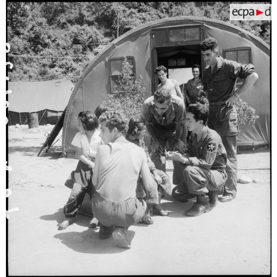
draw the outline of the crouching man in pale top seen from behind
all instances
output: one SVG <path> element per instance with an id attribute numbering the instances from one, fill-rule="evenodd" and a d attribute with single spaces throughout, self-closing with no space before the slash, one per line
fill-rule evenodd
<path id="1" fill-rule="evenodd" d="M 98 148 L 92 177 L 96 189 L 93 214 L 101 222 L 100 238 L 112 234 L 120 247 L 131 248 L 128 227 L 136 224 L 146 210 L 145 202 L 136 197 L 138 175 L 151 194 L 151 173 L 144 150 L 124 137 L 128 129 L 125 116 L 110 111 L 102 114 L 99 121 L 105 145 Z"/>

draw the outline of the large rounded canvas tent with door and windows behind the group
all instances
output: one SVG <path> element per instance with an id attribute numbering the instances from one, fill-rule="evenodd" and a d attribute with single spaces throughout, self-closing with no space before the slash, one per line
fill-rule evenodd
<path id="1" fill-rule="evenodd" d="M 134 75 L 142 76 L 145 98 L 158 85 L 154 69 L 164 65 L 168 69 L 186 69 L 192 64 L 205 68 L 200 43 L 214 37 L 219 43 L 219 54 L 242 64 L 252 63 L 259 75 L 251 91 L 242 96 L 256 109 L 260 118 L 254 127 L 241 131 L 240 144 L 270 143 L 270 48 L 265 42 L 243 29 L 219 20 L 204 17 L 172 17 L 146 23 L 114 40 L 98 53 L 84 70 L 70 96 L 63 126 L 63 153 L 72 153 L 71 141 L 77 132 L 76 115 L 94 109 L 107 95 L 116 90 L 116 80 L 122 70 L 124 56 L 134 66 Z M 184 73 L 186 74 L 186 73 Z M 184 75 L 184 79 L 188 79 Z M 241 80 L 237 80 L 237 87 Z"/>

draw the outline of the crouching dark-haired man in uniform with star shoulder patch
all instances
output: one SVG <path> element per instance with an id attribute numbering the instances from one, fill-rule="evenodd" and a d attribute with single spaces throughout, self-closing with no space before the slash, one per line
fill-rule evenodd
<path id="1" fill-rule="evenodd" d="M 172 191 L 179 201 L 196 196 L 197 202 L 186 215 L 197 216 L 208 212 L 217 204 L 217 196 L 226 182 L 226 150 L 220 136 L 207 127 L 208 105 L 192 104 L 188 107 L 186 125 L 191 131 L 184 154 L 167 152 L 169 159 L 183 164 L 183 178 Z"/>

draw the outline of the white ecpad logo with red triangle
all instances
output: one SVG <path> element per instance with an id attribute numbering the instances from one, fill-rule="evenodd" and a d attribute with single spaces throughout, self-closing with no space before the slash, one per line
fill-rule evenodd
<path id="1" fill-rule="evenodd" d="M 271 4 L 230 4 L 230 20 L 271 20 Z"/>

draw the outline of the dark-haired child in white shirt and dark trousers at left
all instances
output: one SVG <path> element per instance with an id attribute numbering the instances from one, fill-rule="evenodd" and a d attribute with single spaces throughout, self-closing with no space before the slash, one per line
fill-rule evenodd
<path id="1" fill-rule="evenodd" d="M 69 196 L 69 200 L 64 207 L 65 219 L 59 225 L 59 230 L 66 229 L 72 223 L 72 218 L 76 217 L 78 210 L 83 202 L 85 193 L 87 192 L 92 198 L 94 187 L 92 185 L 92 173 L 97 148 L 102 144 L 99 137 L 99 123 L 96 115 L 90 111 L 80 112 L 78 114 L 78 129 L 71 144 L 75 148 L 75 156 L 79 159 L 73 175 L 73 188 Z M 91 224 L 94 222 L 94 227 L 98 221 L 92 218 Z"/>

